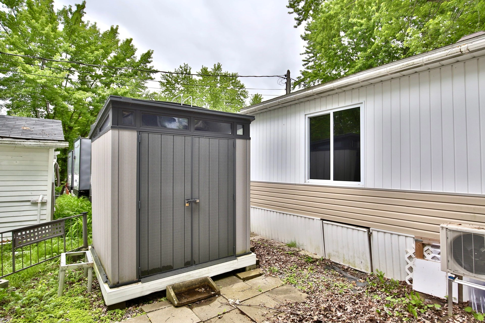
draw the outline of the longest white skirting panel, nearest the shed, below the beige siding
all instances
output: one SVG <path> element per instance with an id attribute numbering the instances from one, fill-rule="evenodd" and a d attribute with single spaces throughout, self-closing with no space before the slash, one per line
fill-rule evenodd
<path id="1" fill-rule="evenodd" d="M 251 207 L 251 232 L 324 255 L 323 229 L 320 219 Z"/>

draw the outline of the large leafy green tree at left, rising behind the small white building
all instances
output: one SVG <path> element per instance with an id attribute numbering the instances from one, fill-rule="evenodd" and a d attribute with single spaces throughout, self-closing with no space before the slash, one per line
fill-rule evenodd
<path id="1" fill-rule="evenodd" d="M 0 51 L 91 65 L 0 55 L 0 107 L 8 114 L 61 120 L 65 140 L 88 135 L 108 95 L 144 97 L 152 51 L 137 57 L 118 27 L 84 21 L 85 2 L 55 11 L 53 0 L 3 0 Z M 65 156 L 60 164 L 65 173 Z"/>

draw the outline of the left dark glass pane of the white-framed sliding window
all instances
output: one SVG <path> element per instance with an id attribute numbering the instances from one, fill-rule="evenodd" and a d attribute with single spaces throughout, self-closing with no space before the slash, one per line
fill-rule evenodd
<path id="1" fill-rule="evenodd" d="M 310 179 L 330 179 L 330 114 L 310 119 Z"/>

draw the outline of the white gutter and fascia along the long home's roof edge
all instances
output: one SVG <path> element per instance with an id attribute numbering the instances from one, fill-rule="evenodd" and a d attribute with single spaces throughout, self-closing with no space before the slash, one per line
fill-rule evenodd
<path id="1" fill-rule="evenodd" d="M 479 55 L 472 55 L 477 51 L 482 51 Z M 423 71 L 437 66 L 452 64 L 456 61 L 463 61 L 476 56 L 485 55 L 485 36 L 473 38 L 471 40 L 438 48 L 420 55 L 415 55 L 396 62 L 377 66 L 372 69 L 362 71 L 347 77 L 341 77 L 336 80 L 316 85 L 307 90 L 300 90 L 292 94 L 285 94 L 274 99 L 261 102 L 254 106 L 243 108 L 241 114 L 258 114 L 271 108 L 280 108 L 291 104 L 297 104 L 300 100 L 308 96 L 327 96 L 331 91 L 339 91 L 342 88 L 355 86 L 361 87 L 367 85 L 371 80 L 377 83 L 383 79 L 401 77 Z M 459 58 L 459 59 L 458 59 Z M 439 65 L 436 65 L 439 64 Z"/>

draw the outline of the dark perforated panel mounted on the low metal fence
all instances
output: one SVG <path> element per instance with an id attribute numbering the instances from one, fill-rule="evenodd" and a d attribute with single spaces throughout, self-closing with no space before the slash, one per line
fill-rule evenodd
<path id="1" fill-rule="evenodd" d="M 64 222 L 64 219 L 61 219 L 12 231 L 14 248 L 63 236 Z"/>

